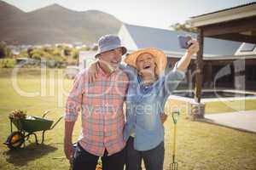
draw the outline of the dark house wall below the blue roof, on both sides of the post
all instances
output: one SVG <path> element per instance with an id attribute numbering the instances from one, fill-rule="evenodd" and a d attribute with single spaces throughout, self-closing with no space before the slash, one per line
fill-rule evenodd
<path id="1" fill-rule="evenodd" d="M 177 60 L 167 58 L 166 72 L 172 70 Z M 191 60 L 178 88 L 195 88 L 195 62 L 195 59 Z M 256 59 L 204 60 L 202 87 L 256 91 Z"/>

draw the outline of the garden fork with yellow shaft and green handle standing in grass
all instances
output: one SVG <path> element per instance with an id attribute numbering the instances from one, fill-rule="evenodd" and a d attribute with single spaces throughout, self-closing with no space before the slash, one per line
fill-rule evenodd
<path id="1" fill-rule="evenodd" d="M 172 120 L 173 120 L 173 148 L 172 148 L 172 163 L 170 164 L 171 170 L 177 170 L 177 161 L 175 159 L 176 156 L 176 124 L 177 117 L 179 116 L 179 111 L 172 111 Z"/>

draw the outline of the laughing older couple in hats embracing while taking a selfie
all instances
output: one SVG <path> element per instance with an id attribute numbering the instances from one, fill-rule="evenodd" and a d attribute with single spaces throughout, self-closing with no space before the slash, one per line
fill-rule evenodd
<path id="1" fill-rule="evenodd" d="M 164 163 L 164 107 L 183 80 L 196 40 L 164 74 L 166 54 L 143 48 L 125 57 L 126 48 L 114 35 L 98 41 L 97 61 L 76 77 L 67 97 L 64 151 L 74 170 L 162 170 Z M 171 44 L 170 44 L 171 45 Z M 125 105 L 125 107 L 124 107 Z M 124 111 L 125 110 L 125 111 Z M 81 133 L 73 148 L 73 127 L 81 111 Z"/>

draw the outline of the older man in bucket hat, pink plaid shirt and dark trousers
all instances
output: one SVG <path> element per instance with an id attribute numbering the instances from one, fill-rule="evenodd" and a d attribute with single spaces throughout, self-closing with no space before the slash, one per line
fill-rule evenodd
<path id="1" fill-rule="evenodd" d="M 99 39 L 98 75 L 89 83 L 88 71 L 82 71 L 67 98 L 64 150 L 73 160 L 73 169 L 95 170 L 102 157 L 104 170 L 123 170 L 125 140 L 123 137 L 123 104 L 128 88 L 128 77 L 119 69 L 126 48 L 119 37 L 106 35 Z M 81 109 L 82 129 L 78 146 L 73 150 L 73 127 Z"/>

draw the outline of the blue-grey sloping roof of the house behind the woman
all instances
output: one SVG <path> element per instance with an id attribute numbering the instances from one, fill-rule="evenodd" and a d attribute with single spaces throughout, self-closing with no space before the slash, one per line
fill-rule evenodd
<path id="1" fill-rule="evenodd" d="M 159 28 L 145 27 L 145 26 L 132 26 L 124 25 L 129 31 L 133 41 L 136 43 L 137 48 L 160 48 L 167 53 L 183 54 L 184 49 L 179 47 L 177 36 L 189 34 L 196 37 L 195 33 L 185 31 L 170 31 Z M 241 42 L 232 42 L 220 40 L 216 38 L 205 38 L 204 57 L 234 55 L 236 50 L 241 46 Z"/>

